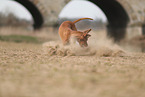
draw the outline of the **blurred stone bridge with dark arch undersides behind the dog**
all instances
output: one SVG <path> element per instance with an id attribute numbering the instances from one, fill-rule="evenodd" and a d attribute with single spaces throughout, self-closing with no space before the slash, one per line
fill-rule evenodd
<path id="1" fill-rule="evenodd" d="M 28 9 L 34 19 L 34 28 L 57 25 L 58 15 L 71 0 L 14 0 Z M 145 0 L 88 0 L 102 9 L 108 18 L 108 35 L 119 41 L 127 27 L 145 24 Z M 139 28 L 139 29 L 140 29 Z M 131 30 L 129 28 L 128 30 Z M 143 30 L 144 31 L 144 30 Z M 139 30 L 140 32 L 140 30 Z M 138 33 L 139 33 L 138 32 Z M 136 32 L 134 32 L 136 33 Z"/>

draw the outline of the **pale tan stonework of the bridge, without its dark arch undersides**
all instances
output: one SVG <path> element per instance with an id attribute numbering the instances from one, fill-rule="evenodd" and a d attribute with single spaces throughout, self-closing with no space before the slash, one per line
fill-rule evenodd
<path id="1" fill-rule="evenodd" d="M 43 17 L 42 26 L 54 26 L 57 24 L 59 13 L 64 8 L 64 6 L 68 4 L 68 2 L 70 2 L 71 0 L 29 0 L 29 1 L 36 6 L 40 14 L 42 15 Z M 97 4 L 97 2 L 101 0 L 89 0 L 89 1 Z M 106 0 L 106 1 L 111 2 L 114 0 Z M 115 1 L 117 1 L 124 8 L 129 17 L 129 23 L 127 24 L 126 28 L 127 32 L 134 31 L 134 33 L 138 33 L 139 35 L 140 33 L 145 33 L 140 32 L 144 31 L 142 29 L 144 27 L 143 25 L 145 25 L 145 0 L 115 0 Z M 134 29 L 140 30 L 138 30 L 139 31 L 138 32 L 137 30 Z M 126 35 L 128 34 L 130 33 L 127 33 Z"/>

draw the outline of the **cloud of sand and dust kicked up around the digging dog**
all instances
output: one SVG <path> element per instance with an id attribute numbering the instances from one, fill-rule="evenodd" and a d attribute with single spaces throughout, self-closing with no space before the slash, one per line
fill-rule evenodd
<path id="1" fill-rule="evenodd" d="M 50 56 L 103 56 L 122 57 L 127 53 L 106 36 L 105 31 L 91 32 L 88 47 L 81 48 L 77 43 L 63 46 L 61 41 L 49 41 L 43 44 L 43 51 Z"/>

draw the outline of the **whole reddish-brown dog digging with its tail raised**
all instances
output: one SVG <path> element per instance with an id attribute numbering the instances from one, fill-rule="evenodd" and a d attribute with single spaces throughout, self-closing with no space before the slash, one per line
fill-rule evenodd
<path id="1" fill-rule="evenodd" d="M 90 19 L 93 20 L 91 18 L 80 18 L 76 21 L 64 21 L 60 27 L 59 27 L 59 35 L 60 38 L 63 42 L 64 45 L 68 44 L 70 41 L 70 37 L 75 37 L 78 41 L 78 43 L 80 44 L 81 47 L 87 47 L 88 43 L 87 40 L 88 38 L 91 36 L 90 34 L 88 34 L 91 29 L 88 29 L 86 31 L 77 31 L 75 23 L 80 21 L 80 20 L 84 20 L 84 19 Z"/>

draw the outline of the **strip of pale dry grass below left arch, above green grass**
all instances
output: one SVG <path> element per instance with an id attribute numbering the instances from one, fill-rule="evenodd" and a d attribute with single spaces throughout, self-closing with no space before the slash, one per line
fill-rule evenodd
<path id="1" fill-rule="evenodd" d="M 22 28 L 12 28 L 12 27 L 1 27 L 0 28 L 0 35 L 1 36 L 28 36 L 28 37 L 35 37 L 39 41 L 52 41 L 52 40 L 58 40 L 59 36 L 56 34 L 57 31 L 50 27 L 45 28 L 37 31 L 33 31 L 31 29 L 22 29 Z"/>

